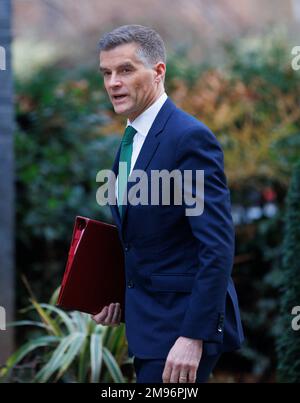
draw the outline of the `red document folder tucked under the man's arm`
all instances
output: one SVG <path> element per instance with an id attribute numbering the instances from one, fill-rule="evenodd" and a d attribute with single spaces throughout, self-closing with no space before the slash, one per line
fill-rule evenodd
<path id="1" fill-rule="evenodd" d="M 117 227 L 77 216 L 57 305 L 94 315 L 119 302 L 124 322 L 124 298 L 124 256 Z"/>

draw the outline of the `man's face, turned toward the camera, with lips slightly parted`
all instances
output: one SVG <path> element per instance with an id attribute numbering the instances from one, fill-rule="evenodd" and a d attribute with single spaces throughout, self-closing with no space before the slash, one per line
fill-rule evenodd
<path id="1" fill-rule="evenodd" d="M 100 52 L 104 86 L 116 113 L 133 121 L 160 95 L 164 64 L 146 66 L 129 43 Z"/>

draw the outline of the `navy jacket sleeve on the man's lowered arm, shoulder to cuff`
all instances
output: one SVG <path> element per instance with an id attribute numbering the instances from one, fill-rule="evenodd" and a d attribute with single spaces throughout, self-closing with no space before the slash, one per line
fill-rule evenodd
<path id="1" fill-rule="evenodd" d="M 192 170 L 193 196 L 198 191 L 195 171 L 204 171 L 203 212 L 186 216 L 196 240 L 199 268 L 180 335 L 222 343 L 227 285 L 234 257 L 234 227 L 223 152 L 212 132 L 199 125 L 181 137 L 176 163 L 182 173 Z"/>

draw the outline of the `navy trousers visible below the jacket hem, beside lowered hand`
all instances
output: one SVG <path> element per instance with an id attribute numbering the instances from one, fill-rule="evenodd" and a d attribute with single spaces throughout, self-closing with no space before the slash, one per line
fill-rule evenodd
<path id="1" fill-rule="evenodd" d="M 203 356 L 197 370 L 196 383 L 204 383 L 214 369 L 221 354 Z M 162 383 L 166 359 L 140 359 L 134 357 L 137 383 Z"/>

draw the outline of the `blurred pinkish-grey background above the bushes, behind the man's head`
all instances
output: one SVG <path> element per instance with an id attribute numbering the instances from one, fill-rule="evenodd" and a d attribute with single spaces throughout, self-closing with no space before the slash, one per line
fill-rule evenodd
<path id="1" fill-rule="evenodd" d="M 23 71 L 30 58 L 58 54 L 91 62 L 100 35 L 123 24 L 156 28 L 169 51 L 188 49 L 193 61 L 218 60 L 224 41 L 254 40 L 272 26 L 286 31 L 291 43 L 300 31 L 299 0 L 13 0 L 13 6 L 16 61 L 21 53 Z"/>

